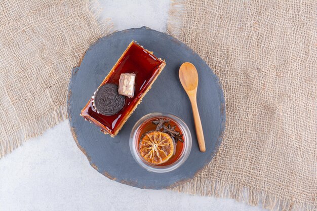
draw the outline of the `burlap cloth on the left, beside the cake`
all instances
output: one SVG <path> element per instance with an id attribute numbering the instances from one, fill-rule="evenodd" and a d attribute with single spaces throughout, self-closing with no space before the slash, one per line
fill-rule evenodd
<path id="1" fill-rule="evenodd" d="M 0 157 L 66 118 L 71 68 L 110 29 L 94 5 L 0 1 Z"/>

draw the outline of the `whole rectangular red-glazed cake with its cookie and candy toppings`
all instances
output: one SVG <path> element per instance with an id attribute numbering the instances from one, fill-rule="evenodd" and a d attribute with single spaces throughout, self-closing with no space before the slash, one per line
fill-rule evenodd
<path id="1" fill-rule="evenodd" d="M 132 41 L 93 93 L 81 116 L 99 126 L 103 133 L 116 136 L 165 65 L 164 60 Z"/>

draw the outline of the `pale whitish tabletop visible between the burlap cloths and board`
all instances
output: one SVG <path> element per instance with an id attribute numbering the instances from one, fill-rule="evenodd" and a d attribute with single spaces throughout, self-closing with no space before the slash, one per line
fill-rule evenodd
<path id="1" fill-rule="evenodd" d="M 169 0 L 99 1 L 117 30 L 166 31 Z M 0 210 L 264 210 L 232 199 L 143 190 L 92 168 L 64 121 L 0 159 Z"/>

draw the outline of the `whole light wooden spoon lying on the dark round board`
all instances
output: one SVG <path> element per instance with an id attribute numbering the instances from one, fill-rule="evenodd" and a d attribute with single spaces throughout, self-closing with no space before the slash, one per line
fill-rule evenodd
<path id="1" fill-rule="evenodd" d="M 198 73 L 195 66 L 189 62 L 183 63 L 179 68 L 179 79 L 191 103 L 199 148 L 201 152 L 205 152 L 203 127 L 197 107 Z"/>

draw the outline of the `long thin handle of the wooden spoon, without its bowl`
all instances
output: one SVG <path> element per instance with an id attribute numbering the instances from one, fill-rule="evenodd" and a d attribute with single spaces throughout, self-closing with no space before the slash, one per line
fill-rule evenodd
<path id="1" fill-rule="evenodd" d="M 202 127 L 201 117 L 199 115 L 199 111 L 197 107 L 196 96 L 191 97 L 190 102 L 191 102 L 192 113 L 193 113 L 194 121 L 195 121 L 196 136 L 198 140 L 199 149 L 201 150 L 201 152 L 205 152 L 206 146 L 205 146 L 204 132 Z"/>

